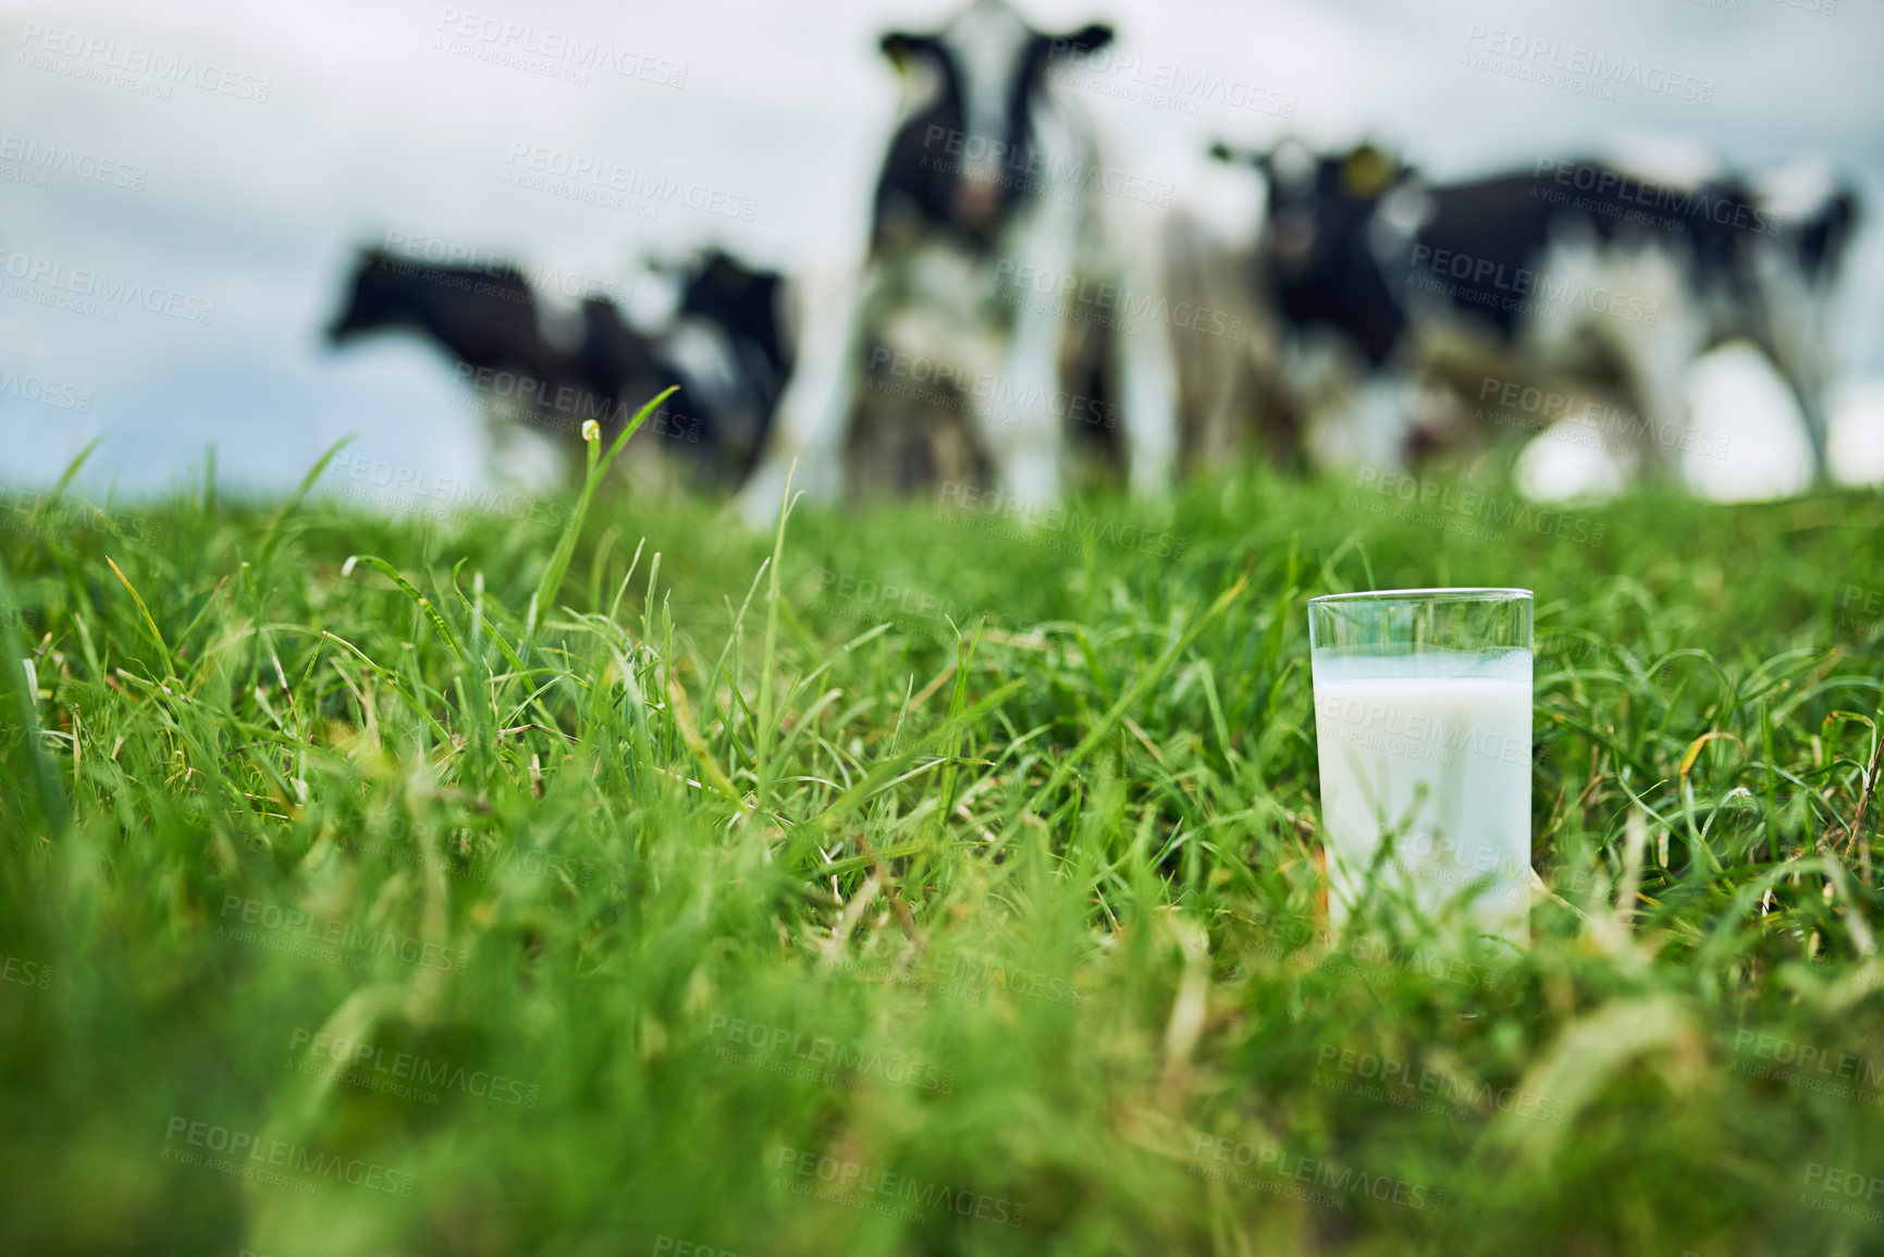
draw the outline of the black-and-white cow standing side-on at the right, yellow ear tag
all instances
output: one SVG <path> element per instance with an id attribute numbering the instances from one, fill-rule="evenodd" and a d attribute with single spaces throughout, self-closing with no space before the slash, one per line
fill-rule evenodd
<path id="1" fill-rule="evenodd" d="M 1690 371 L 1745 341 L 1790 388 L 1826 475 L 1829 371 L 1812 332 L 1854 190 L 1827 179 L 1782 200 L 1731 173 L 1677 181 L 1592 158 L 1426 183 L 1372 143 L 1242 160 L 1268 196 L 1245 273 L 1285 326 L 1277 405 L 1307 416 L 1328 458 L 1483 443 L 1477 401 L 1513 383 L 1562 400 L 1543 420 L 1605 420 L 1628 471 L 1667 471 L 1694 443 Z"/>

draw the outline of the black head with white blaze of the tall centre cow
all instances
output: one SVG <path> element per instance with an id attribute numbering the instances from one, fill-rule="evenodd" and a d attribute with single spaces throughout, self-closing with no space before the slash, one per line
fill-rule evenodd
<path id="1" fill-rule="evenodd" d="M 1112 26 L 1031 28 L 1004 0 L 974 0 L 936 34 L 889 32 L 884 55 L 912 79 L 876 190 L 876 241 L 940 226 L 985 245 L 1057 171 L 1038 153 L 1034 111 L 1055 58 L 1112 41 Z"/>

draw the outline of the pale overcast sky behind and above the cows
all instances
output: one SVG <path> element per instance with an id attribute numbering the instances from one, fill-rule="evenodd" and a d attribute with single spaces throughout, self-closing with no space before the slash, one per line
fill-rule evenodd
<path id="1" fill-rule="evenodd" d="M 435 354 L 407 339 L 339 354 L 318 341 L 358 243 L 405 232 L 590 285 L 631 283 L 639 258 L 708 241 L 788 271 L 853 256 L 897 104 L 876 40 L 933 28 L 955 6 L 156 8 L 0 4 L 0 482 L 45 482 L 106 435 L 87 477 L 94 490 L 162 490 L 211 443 L 226 481 L 271 488 L 298 481 L 347 432 L 362 433 L 362 458 L 477 479 L 477 420 Z M 1113 162 L 1179 196 L 1202 187 L 1200 155 L 1215 138 L 1373 136 L 1437 177 L 1645 143 L 1748 170 L 1827 158 L 1869 209 L 1837 349 L 1854 375 L 1884 375 L 1875 0 L 1021 8 L 1049 30 L 1117 26 L 1115 51 L 1130 60 L 1096 64 L 1080 96 Z M 529 26 L 518 38 L 528 51 L 505 47 L 503 24 Z M 1547 41 L 1545 60 L 1558 62 L 1579 51 L 1639 58 L 1662 72 L 1656 81 L 1675 75 L 1711 100 L 1628 85 L 1605 100 L 1464 62 L 1492 40 L 1507 53 Z M 578 43 L 607 47 L 614 68 L 582 70 L 586 83 L 552 77 L 573 68 L 561 51 Z M 494 53 L 520 64 L 477 57 Z M 1123 98 L 1142 79 L 1191 87 Z M 706 207 L 599 207 L 507 183 L 528 173 L 529 158 L 514 155 L 537 149 L 678 183 Z M 45 168 L 28 151 L 64 156 Z M 117 307 L 115 318 L 49 307 L 49 266 L 162 290 L 164 302 Z M 40 279 L 23 288 L 21 268 Z M 53 396 L 24 396 L 43 392 L 26 377 L 55 381 Z"/>

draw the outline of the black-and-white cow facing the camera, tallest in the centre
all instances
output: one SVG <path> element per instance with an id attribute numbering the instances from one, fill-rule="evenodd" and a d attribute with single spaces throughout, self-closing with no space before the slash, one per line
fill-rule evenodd
<path id="1" fill-rule="evenodd" d="M 1053 501 L 1074 443 L 1108 445 L 1136 488 L 1172 460 L 1162 335 L 1081 318 L 1081 294 L 1157 292 L 1123 249 L 1091 126 L 1053 64 L 1112 40 L 1048 36 L 1002 0 L 938 34 L 885 34 L 906 102 L 874 194 L 861 279 L 806 305 L 801 367 L 742 509 L 776 516 L 786 473 L 816 498 L 957 481 Z"/>

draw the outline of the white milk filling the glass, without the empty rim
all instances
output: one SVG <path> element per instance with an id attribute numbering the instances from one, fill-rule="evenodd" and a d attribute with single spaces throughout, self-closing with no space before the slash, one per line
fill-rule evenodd
<path id="1" fill-rule="evenodd" d="M 1313 669 L 1334 923 L 1360 903 L 1390 837 L 1383 890 L 1428 914 L 1473 891 L 1481 929 L 1526 940 L 1530 650 L 1317 652 Z"/>

